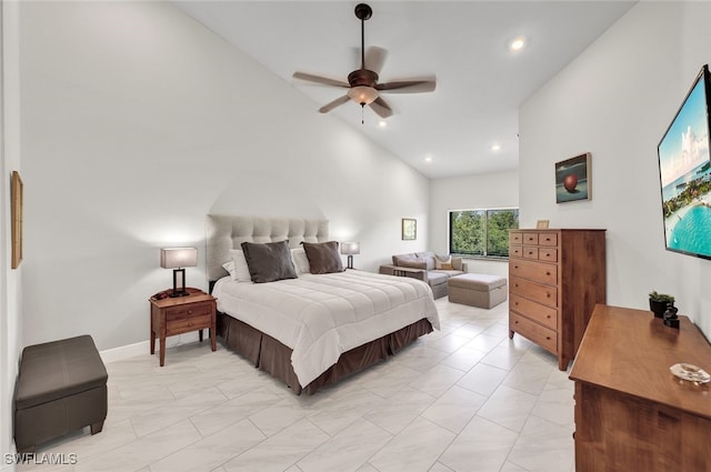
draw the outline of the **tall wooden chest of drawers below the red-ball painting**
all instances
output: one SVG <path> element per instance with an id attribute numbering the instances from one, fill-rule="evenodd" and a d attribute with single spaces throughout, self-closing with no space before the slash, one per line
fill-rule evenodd
<path id="1" fill-rule="evenodd" d="M 605 302 L 605 230 L 509 232 L 509 338 L 575 356 L 595 303 Z"/>

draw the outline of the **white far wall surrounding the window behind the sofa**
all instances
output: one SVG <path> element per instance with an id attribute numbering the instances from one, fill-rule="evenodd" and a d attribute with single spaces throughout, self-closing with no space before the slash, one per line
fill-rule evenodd
<path id="1" fill-rule="evenodd" d="M 437 253 L 449 252 L 449 211 L 518 205 L 519 173 L 517 171 L 431 180 L 430 250 Z M 508 261 L 469 259 L 467 270 L 509 277 Z"/>

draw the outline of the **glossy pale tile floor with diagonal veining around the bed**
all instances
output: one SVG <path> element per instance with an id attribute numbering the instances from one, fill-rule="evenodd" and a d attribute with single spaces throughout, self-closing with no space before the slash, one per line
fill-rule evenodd
<path id="1" fill-rule="evenodd" d="M 553 355 L 508 338 L 508 304 L 437 301 L 442 330 L 296 396 L 218 343 L 107 365 L 109 415 L 38 449 L 41 472 L 571 472 L 573 384 Z M 36 462 L 38 462 L 36 460 Z"/>

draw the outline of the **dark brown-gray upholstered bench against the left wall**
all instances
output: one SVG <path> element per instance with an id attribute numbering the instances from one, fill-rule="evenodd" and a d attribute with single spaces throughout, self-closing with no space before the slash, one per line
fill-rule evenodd
<path id="1" fill-rule="evenodd" d="M 107 370 L 90 335 L 22 350 L 14 398 L 18 452 L 70 431 L 101 432 L 107 418 Z"/>

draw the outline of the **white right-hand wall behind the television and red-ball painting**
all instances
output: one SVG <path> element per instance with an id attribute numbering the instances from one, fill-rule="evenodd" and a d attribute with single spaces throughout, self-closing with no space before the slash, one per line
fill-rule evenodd
<path id="1" fill-rule="evenodd" d="M 607 228 L 608 303 L 673 293 L 707 337 L 711 262 L 664 250 L 657 144 L 710 44 L 711 3 L 640 2 L 519 114 L 522 225 Z M 554 162 L 585 151 L 592 200 L 555 204 Z"/>

